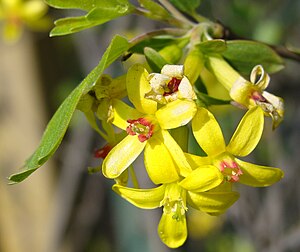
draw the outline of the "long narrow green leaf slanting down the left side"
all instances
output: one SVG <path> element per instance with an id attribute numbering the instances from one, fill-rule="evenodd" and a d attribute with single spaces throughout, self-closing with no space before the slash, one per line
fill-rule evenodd
<path id="1" fill-rule="evenodd" d="M 27 178 L 54 154 L 63 139 L 80 98 L 93 87 L 104 69 L 126 52 L 128 48 L 129 43 L 125 38 L 118 35 L 113 38 L 99 64 L 58 108 L 47 125 L 40 145 L 33 155 L 25 162 L 25 169 L 9 177 L 9 180 L 12 183 L 18 183 Z"/>

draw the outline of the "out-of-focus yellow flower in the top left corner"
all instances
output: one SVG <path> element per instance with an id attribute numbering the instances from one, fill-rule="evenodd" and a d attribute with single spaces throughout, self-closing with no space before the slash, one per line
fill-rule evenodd
<path id="1" fill-rule="evenodd" d="M 23 24 L 34 30 L 47 29 L 50 25 L 50 20 L 45 17 L 47 10 L 47 5 L 41 0 L 1 0 L 3 38 L 7 42 L 16 41 L 22 33 Z"/>

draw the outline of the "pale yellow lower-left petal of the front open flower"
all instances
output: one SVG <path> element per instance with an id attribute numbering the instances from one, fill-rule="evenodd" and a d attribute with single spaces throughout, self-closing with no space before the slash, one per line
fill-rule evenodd
<path id="1" fill-rule="evenodd" d="M 137 136 L 126 136 L 103 160 L 103 175 L 107 178 L 118 177 L 141 154 L 146 143 L 141 143 Z"/>

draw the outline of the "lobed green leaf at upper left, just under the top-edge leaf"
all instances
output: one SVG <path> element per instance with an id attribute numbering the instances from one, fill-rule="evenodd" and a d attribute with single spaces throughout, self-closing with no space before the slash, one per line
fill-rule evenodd
<path id="1" fill-rule="evenodd" d="M 90 10 L 85 16 L 67 17 L 56 20 L 54 22 L 55 27 L 50 32 L 50 36 L 71 34 L 96 25 L 101 25 L 115 18 L 125 16 L 132 11 L 133 8 L 128 4 L 96 7 Z"/>

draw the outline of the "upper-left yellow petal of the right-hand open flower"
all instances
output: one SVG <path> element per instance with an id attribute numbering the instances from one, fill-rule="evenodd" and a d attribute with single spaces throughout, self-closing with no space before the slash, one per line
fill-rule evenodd
<path id="1" fill-rule="evenodd" d="M 221 128 L 212 113 L 205 108 L 198 108 L 192 121 L 193 134 L 208 156 L 225 151 Z"/>

